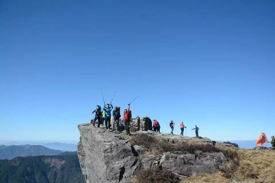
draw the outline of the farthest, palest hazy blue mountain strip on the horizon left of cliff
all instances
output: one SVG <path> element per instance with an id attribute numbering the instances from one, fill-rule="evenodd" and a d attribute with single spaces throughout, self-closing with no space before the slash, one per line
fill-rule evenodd
<path id="1" fill-rule="evenodd" d="M 9 145 L 41 145 L 46 148 L 60 150 L 60 151 L 76 151 L 76 144 L 72 143 L 60 143 L 60 142 L 0 142 L 0 145 L 3 144 L 5 146 Z"/>

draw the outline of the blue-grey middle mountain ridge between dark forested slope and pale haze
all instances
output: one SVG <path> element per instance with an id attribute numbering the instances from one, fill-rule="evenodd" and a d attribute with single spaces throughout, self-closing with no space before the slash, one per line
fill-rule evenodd
<path id="1" fill-rule="evenodd" d="M 60 150 L 53 150 L 40 145 L 10 145 L 0 146 L 0 159 L 11 160 L 17 156 L 37 156 L 37 155 L 58 155 L 63 153 Z"/>

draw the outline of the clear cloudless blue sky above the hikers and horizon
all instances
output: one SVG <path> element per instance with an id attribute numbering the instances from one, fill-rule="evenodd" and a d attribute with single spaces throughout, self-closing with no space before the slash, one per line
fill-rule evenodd
<path id="1" fill-rule="evenodd" d="M 270 137 L 274 33 L 275 1 L 2 0 L 0 140 L 77 140 L 100 88 L 161 132 Z"/>

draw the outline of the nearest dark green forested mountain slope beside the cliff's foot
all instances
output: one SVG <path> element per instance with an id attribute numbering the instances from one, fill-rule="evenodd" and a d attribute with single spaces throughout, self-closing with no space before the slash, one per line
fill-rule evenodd
<path id="1" fill-rule="evenodd" d="M 1 183 L 85 183 L 76 152 L 0 160 Z"/>

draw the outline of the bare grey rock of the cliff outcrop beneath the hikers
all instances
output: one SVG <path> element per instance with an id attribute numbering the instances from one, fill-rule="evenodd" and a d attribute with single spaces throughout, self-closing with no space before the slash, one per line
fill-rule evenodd
<path id="1" fill-rule="evenodd" d="M 104 130 L 104 126 L 97 128 L 92 124 L 82 124 L 78 125 L 78 129 L 81 138 L 77 153 L 87 183 L 126 183 L 143 167 L 161 166 L 179 176 L 192 176 L 214 173 L 227 165 L 227 159 L 222 153 L 196 151 L 192 154 L 177 151 L 152 156 L 146 154 L 145 148 L 132 146 L 123 134 Z M 187 138 L 151 130 L 136 133 L 146 133 L 172 143 L 180 140 L 211 142 L 210 139 Z"/>

